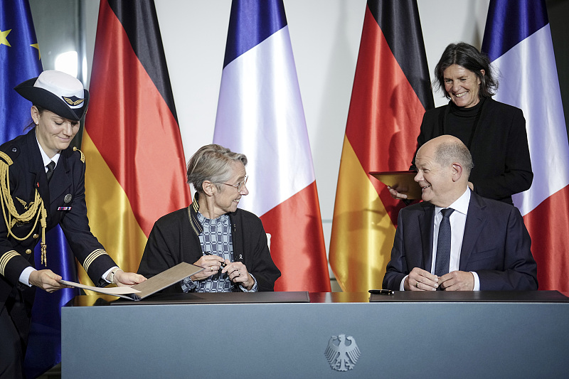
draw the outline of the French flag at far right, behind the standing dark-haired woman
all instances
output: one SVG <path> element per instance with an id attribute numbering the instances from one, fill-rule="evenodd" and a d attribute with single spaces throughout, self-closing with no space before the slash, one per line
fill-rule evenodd
<path id="1" fill-rule="evenodd" d="M 496 100 L 526 117 L 533 183 L 514 196 L 540 289 L 569 291 L 569 145 L 545 1 L 491 0 L 482 50 L 501 76 Z"/>

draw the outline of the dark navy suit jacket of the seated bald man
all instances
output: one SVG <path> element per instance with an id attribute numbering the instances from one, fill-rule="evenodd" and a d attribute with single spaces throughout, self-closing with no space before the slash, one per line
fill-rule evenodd
<path id="1" fill-rule="evenodd" d="M 383 288 L 398 290 L 414 267 L 430 272 L 435 205 L 422 202 L 399 212 Z M 531 239 L 518 208 L 471 193 L 459 270 L 477 272 L 481 290 L 538 289 Z"/>

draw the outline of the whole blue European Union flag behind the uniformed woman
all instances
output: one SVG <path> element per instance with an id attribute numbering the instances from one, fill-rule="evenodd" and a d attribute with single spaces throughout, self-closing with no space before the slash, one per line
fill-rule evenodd
<path id="1" fill-rule="evenodd" d="M 28 0 L 0 1 L 0 144 L 23 134 L 31 123 L 31 102 L 14 87 L 42 71 L 40 50 Z M 46 235 L 49 269 L 63 279 L 77 281 L 75 259 L 58 227 Z M 38 257 L 36 249 L 36 257 Z M 36 267 L 39 266 L 36 260 Z M 61 361 L 61 306 L 78 292 L 62 289 L 53 294 L 39 290 L 33 304 L 26 377 L 36 378 Z"/>

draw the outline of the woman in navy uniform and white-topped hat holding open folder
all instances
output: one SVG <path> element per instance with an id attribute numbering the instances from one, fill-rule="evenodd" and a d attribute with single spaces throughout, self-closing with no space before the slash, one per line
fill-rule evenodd
<path id="1" fill-rule="evenodd" d="M 61 226 L 97 286 L 145 280 L 119 269 L 89 228 L 85 156 L 69 147 L 87 111 L 89 92 L 59 71 L 44 71 L 15 90 L 32 102 L 33 123 L 27 134 L 0 146 L 1 378 L 23 378 L 35 287 L 47 292 L 64 287 L 48 266 L 47 230 Z M 36 269 L 32 252 L 38 242 L 42 267 Z"/>

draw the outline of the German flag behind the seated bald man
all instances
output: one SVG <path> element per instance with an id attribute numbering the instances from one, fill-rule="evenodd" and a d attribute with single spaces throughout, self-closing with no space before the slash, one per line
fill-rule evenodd
<path id="1" fill-rule="evenodd" d="M 432 107 L 417 2 L 368 1 L 330 242 L 344 292 L 381 288 L 403 203 L 368 173 L 409 169 L 422 115 Z"/>

